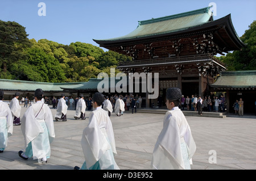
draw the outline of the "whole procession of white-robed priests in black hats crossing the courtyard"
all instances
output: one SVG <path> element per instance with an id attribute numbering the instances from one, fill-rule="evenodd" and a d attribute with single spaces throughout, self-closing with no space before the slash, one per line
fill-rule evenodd
<path id="1" fill-rule="evenodd" d="M 47 163 L 51 156 L 51 143 L 55 138 L 52 111 L 42 101 L 43 90 L 35 90 L 35 103 L 27 108 L 20 121 L 19 92 L 16 92 L 10 105 L 3 102 L 4 92 L 0 91 L 0 153 L 7 147 L 8 138 L 13 134 L 13 125 L 21 125 L 24 136 L 24 150 L 18 152 L 23 159 L 38 159 L 38 163 Z M 192 157 L 196 151 L 191 128 L 183 112 L 179 108 L 181 90 L 173 87 L 167 89 L 166 112 L 163 128 L 152 153 L 151 167 L 158 170 L 189 170 Z M 67 104 L 65 95 L 57 104 L 55 121 L 67 121 Z M 103 106 L 102 106 L 103 105 Z M 96 92 L 92 98 L 93 111 L 90 111 L 88 126 L 81 135 L 81 148 L 84 163 L 75 170 L 119 170 L 114 155 L 114 131 L 110 115 L 113 106 L 108 96 Z M 85 119 L 86 102 L 81 95 L 76 104 L 75 119 Z M 121 116 L 125 111 L 125 103 L 119 96 L 115 101 L 114 112 Z"/>

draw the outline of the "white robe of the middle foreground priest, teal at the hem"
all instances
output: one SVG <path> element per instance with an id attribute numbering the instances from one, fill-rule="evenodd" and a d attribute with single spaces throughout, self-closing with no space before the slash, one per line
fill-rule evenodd
<path id="1" fill-rule="evenodd" d="M 97 107 L 90 113 L 88 127 L 82 133 L 85 162 L 81 169 L 119 170 L 114 160 L 115 139 L 108 112 Z"/>

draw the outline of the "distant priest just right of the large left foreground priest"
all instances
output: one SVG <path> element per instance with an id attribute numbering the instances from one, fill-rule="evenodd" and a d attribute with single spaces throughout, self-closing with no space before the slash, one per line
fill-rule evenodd
<path id="1" fill-rule="evenodd" d="M 65 95 L 61 94 L 61 98 L 59 99 L 59 102 L 57 104 L 57 112 L 55 114 L 55 121 L 61 120 L 61 121 L 67 121 L 67 111 L 68 106 L 65 101 Z"/>

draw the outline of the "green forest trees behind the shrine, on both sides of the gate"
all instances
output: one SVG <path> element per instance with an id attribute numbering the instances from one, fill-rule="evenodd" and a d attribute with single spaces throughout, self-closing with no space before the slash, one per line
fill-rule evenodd
<path id="1" fill-rule="evenodd" d="M 36 82 L 85 82 L 98 73 L 110 73 L 131 57 L 87 43 L 59 44 L 47 39 L 28 39 L 26 28 L 0 20 L 0 78 Z M 247 44 L 217 57 L 227 70 L 256 70 L 256 22 L 241 37 Z M 116 71 L 118 73 L 118 71 Z"/>

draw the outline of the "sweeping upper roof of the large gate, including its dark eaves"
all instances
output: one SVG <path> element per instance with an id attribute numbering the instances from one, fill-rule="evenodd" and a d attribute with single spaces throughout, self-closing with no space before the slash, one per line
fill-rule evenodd
<path id="1" fill-rule="evenodd" d="M 224 45 L 226 51 L 239 50 L 245 46 L 234 30 L 231 15 L 213 20 L 210 7 L 181 14 L 164 16 L 150 20 L 139 21 L 138 27 L 129 34 L 112 39 L 95 40 L 100 47 L 114 50 L 114 47 L 122 45 L 135 45 L 154 41 L 163 41 L 164 37 L 172 38 L 188 37 L 195 33 L 213 32 L 214 41 Z"/>

